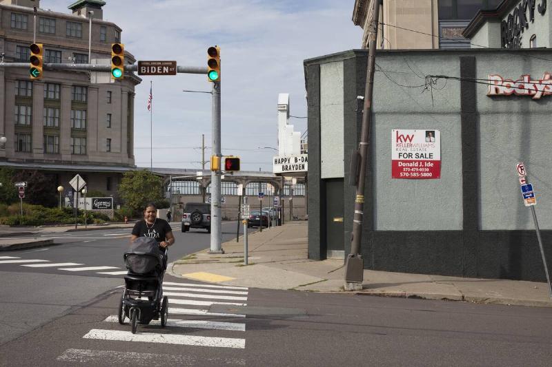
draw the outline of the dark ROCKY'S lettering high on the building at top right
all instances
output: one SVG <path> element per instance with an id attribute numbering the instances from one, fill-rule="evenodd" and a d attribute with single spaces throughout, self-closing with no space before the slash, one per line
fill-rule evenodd
<path id="1" fill-rule="evenodd" d="M 535 21 L 535 7 L 539 14 L 546 12 L 546 0 L 522 0 L 500 23 L 502 48 L 521 48 L 522 33 Z"/>

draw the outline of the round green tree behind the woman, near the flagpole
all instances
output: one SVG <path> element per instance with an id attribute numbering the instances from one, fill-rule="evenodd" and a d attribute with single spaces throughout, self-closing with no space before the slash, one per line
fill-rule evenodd
<path id="1" fill-rule="evenodd" d="M 144 210 L 148 202 L 161 200 L 163 180 L 146 169 L 128 171 L 119 185 L 119 195 L 125 206 L 135 211 Z"/>

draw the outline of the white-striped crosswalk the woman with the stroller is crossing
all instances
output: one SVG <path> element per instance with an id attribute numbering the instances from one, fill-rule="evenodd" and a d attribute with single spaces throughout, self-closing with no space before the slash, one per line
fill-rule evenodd
<path id="1" fill-rule="evenodd" d="M 135 345 L 137 350 L 143 350 L 144 344 L 152 346 L 159 344 L 173 344 L 179 346 L 224 348 L 228 350 L 243 350 L 246 348 L 244 333 L 246 315 L 239 313 L 213 313 L 206 307 L 210 304 L 226 304 L 225 297 L 241 297 L 241 306 L 247 305 L 248 288 L 239 286 L 219 286 L 215 284 L 198 284 L 188 282 L 164 282 L 164 295 L 169 296 L 168 320 L 166 328 L 161 328 L 158 320 L 152 320 L 148 326 L 140 325 L 136 334 L 130 331 L 128 317 L 124 325 L 119 324 L 117 315 L 109 315 L 101 322 L 95 324 L 82 336 L 83 340 L 97 340 L 107 342 L 125 342 L 125 350 L 132 349 Z M 168 290 L 165 292 L 165 290 Z M 206 302 L 205 299 L 210 301 Z M 217 300 L 222 300 L 221 302 Z M 206 303 L 202 303 L 206 302 Z M 181 307 L 186 304 L 186 308 Z M 118 305 L 114 305 L 117 310 Z M 242 320 L 242 322 L 240 322 Z M 222 333 L 217 335 L 217 333 Z M 230 334 L 229 334 L 230 333 Z M 235 335 L 234 335 L 235 334 Z M 111 344 L 91 344 L 96 346 Z M 78 345 L 76 345 L 78 346 Z M 101 348 L 101 347 L 100 347 Z M 108 347 L 109 348 L 109 347 Z M 148 347 L 149 348 L 149 347 Z M 188 355 L 186 359 L 194 358 Z M 97 350 L 68 348 L 57 357 L 58 361 L 69 363 L 108 363 L 120 359 L 122 356 L 132 360 L 150 361 L 151 353 L 143 352 L 121 352 L 121 350 Z M 184 357 L 184 356 L 182 356 Z M 188 366 L 182 363 L 174 355 L 156 355 L 157 361 L 167 361 L 168 364 Z M 176 359 L 175 359 L 176 358 Z M 206 361 L 194 360 L 194 364 L 202 364 Z M 215 360 L 213 360 L 215 362 Z M 245 360 L 240 358 L 217 359 L 217 364 L 242 365 Z"/>

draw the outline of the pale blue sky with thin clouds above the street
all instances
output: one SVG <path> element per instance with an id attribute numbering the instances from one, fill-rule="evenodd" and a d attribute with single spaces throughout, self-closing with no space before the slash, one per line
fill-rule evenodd
<path id="1" fill-rule="evenodd" d="M 242 158 L 242 170 L 272 171 L 277 148 L 277 98 L 290 94 L 290 114 L 306 117 L 303 61 L 359 48 L 354 0 L 105 0 L 103 19 L 119 25 L 137 60 L 206 66 L 208 47 L 221 51 L 221 145 Z M 41 0 L 68 13 L 72 0 Z M 141 76 L 135 96 L 138 167 L 201 169 L 201 134 L 211 155 L 211 97 L 206 75 Z M 152 134 L 147 109 L 152 81 Z M 290 118 L 302 134 L 306 118 Z M 150 157 L 152 140 L 152 157 Z M 206 169 L 209 165 L 206 164 Z"/>

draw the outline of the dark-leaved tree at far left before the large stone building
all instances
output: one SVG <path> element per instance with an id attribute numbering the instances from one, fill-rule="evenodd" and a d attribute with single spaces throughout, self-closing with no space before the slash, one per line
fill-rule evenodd
<path id="1" fill-rule="evenodd" d="M 45 175 L 41 171 L 23 169 L 17 171 L 14 182 L 26 181 L 25 202 L 28 204 L 55 207 L 57 205 L 57 182 L 55 176 Z"/>

